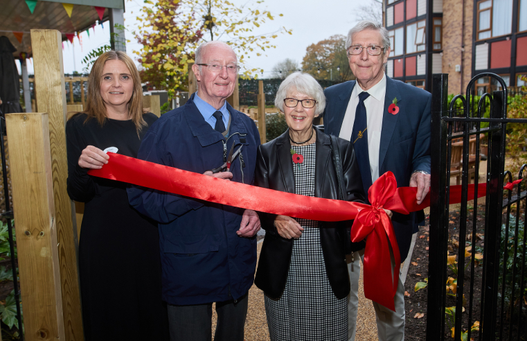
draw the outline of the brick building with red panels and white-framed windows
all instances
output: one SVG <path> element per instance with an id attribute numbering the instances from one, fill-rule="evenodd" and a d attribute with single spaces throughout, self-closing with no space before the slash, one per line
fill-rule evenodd
<path id="1" fill-rule="evenodd" d="M 449 93 L 497 73 L 508 87 L 527 76 L 527 0 L 384 0 L 392 52 L 386 73 L 431 91 L 432 73 L 449 74 Z M 499 87 L 482 78 L 479 93 Z"/>

